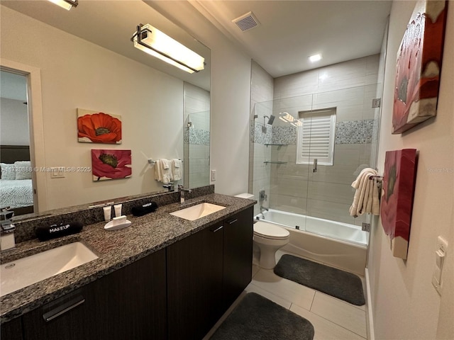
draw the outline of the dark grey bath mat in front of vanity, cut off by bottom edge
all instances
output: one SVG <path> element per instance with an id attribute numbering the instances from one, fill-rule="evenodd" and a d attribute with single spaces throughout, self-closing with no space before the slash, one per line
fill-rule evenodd
<path id="1" fill-rule="evenodd" d="M 248 293 L 210 340 L 312 340 L 311 322 L 262 295 Z"/>

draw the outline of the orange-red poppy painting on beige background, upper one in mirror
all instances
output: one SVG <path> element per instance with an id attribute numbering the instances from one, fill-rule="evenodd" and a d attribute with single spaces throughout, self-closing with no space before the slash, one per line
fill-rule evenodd
<path id="1" fill-rule="evenodd" d="M 77 109 L 79 142 L 121 144 L 121 115 Z"/>

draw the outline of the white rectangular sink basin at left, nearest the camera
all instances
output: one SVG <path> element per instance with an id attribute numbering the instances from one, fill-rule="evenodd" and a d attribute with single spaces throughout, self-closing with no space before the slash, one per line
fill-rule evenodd
<path id="1" fill-rule="evenodd" d="M 4 263 L 0 268 L 0 296 L 69 271 L 94 259 L 98 259 L 98 256 L 87 246 L 82 242 L 74 242 Z"/>

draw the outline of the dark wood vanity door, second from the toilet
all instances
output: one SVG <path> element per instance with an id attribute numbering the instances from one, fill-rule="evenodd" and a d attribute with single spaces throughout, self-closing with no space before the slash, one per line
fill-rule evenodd
<path id="1" fill-rule="evenodd" d="M 202 339 L 223 313 L 222 227 L 167 247 L 169 339 Z"/>

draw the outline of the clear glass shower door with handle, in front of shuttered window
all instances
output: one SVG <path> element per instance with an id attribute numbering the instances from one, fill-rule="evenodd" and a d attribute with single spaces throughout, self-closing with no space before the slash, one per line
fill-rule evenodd
<path id="1" fill-rule="evenodd" d="M 367 215 L 350 215 L 355 195 L 351 185 L 362 169 L 371 167 L 376 110 L 372 108 L 372 98 L 376 91 L 377 84 L 370 84 L 314 94 L 312 110 L 302 114 L 303 125 L 304 115 L 310 125 L 307 144 L 312 170 L 306 209 L 314 223 L 307 223 L 309 232 L 349 240 L 347 231 L 351 230 L 342 225 L 359 229 L 353 234 L 360 234 L 362 222 L 366 222 Z M 367 239 L 365 235 L 358 237 Z M 358 241 L 352 238 L 350 241 Z"/>

